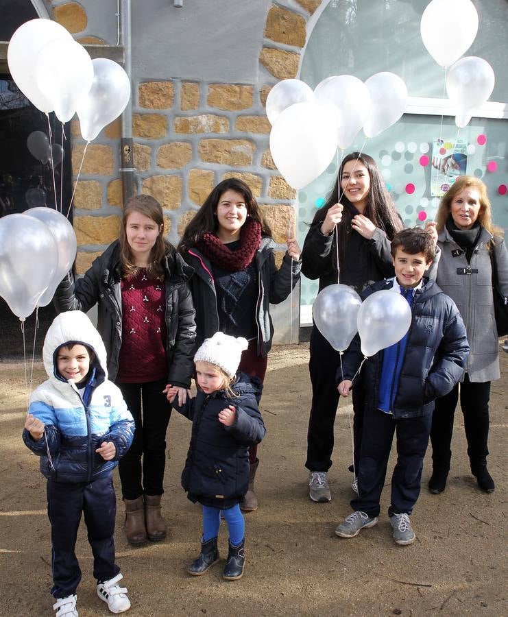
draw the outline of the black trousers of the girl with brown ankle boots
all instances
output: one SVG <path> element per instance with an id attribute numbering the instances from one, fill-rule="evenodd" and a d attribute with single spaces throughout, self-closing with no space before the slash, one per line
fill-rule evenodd
<path id="1" fill-rule="evenodd" d="M 171 416 L 171 404 L 162 393 L 166 383 L 117 383 L 136 425 L 132 445 L 118 465 L 125 499 L 164 492 L 166 431 Z"/>

